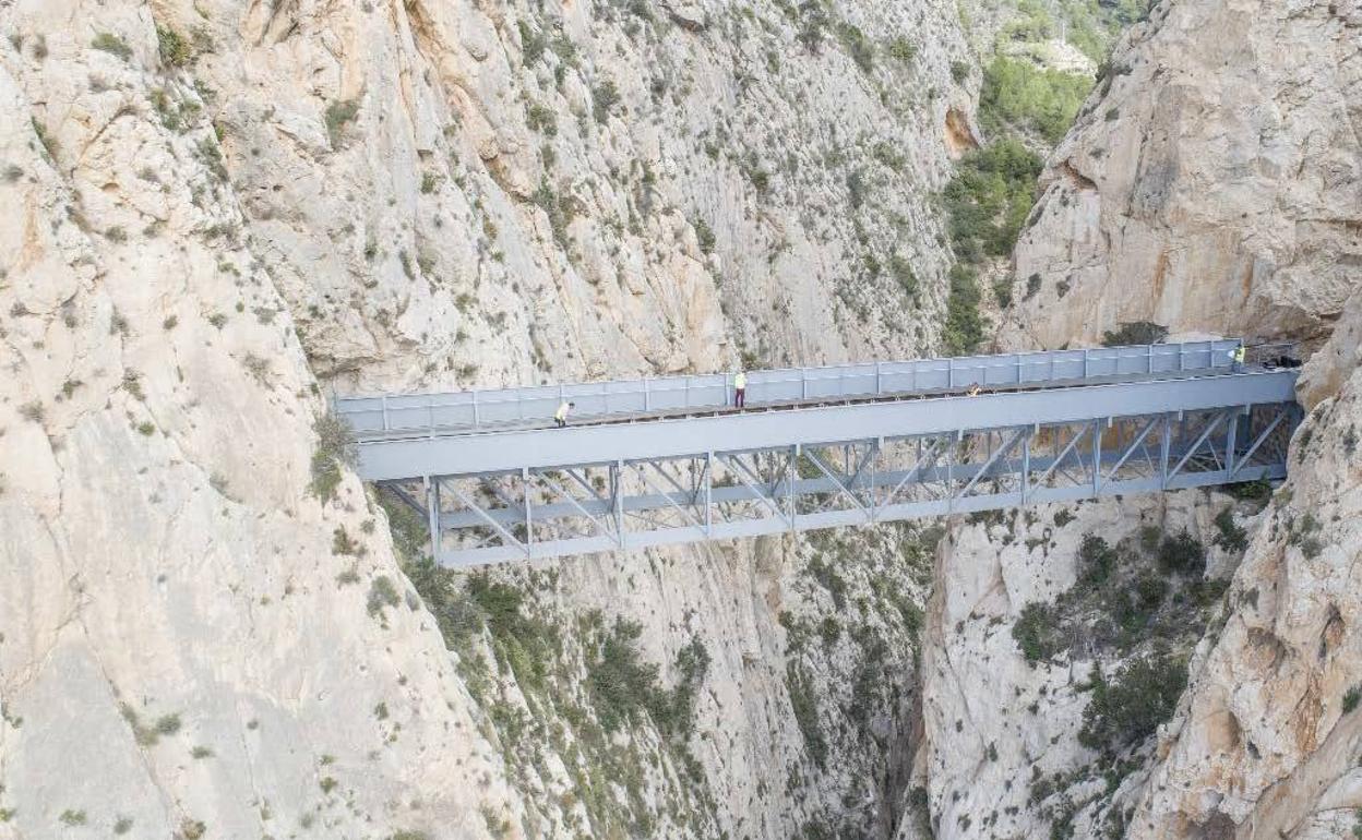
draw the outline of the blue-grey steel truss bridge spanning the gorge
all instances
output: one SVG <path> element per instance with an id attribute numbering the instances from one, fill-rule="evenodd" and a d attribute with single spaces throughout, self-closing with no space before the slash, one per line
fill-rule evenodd
<path id="1" fill-rule="evenodd" d="M 469 566 L 1286 476 L 1238 340 L 340 398 L 360 475 Z M 552 426 L 560 402 L 576 408 Z"/>

